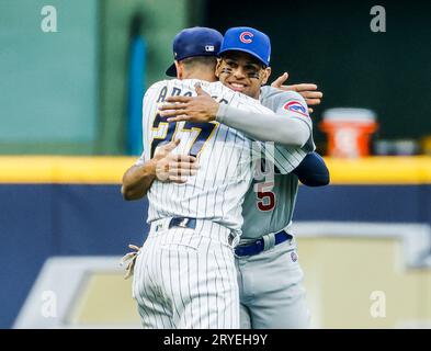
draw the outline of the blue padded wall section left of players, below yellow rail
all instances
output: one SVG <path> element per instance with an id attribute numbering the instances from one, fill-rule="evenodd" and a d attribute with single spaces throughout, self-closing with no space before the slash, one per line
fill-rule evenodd
<path id="1" fill-rule="evenodd" d="M 123 254 L 146 233 L 144 202 L 118 185 L 0 185 L 0 328 L 11 327 L 50 256 Z"/>

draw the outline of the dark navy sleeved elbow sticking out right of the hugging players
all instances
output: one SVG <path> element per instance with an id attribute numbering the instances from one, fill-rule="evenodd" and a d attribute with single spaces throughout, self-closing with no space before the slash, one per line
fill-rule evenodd
<path id="1" fill-rule="evenodd" d="M 292 173 L 296 174 L 307 186 L 325 186 L 330 181 L 328 167 L 317 152 L 308 154 Z"/>

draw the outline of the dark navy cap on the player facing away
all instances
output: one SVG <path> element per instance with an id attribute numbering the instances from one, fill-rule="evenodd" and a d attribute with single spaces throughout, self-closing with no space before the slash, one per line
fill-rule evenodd
<path id="1" fill-rule="evenodd" d="M 217 56 L 222 42 L 222 33 L 213 29 L 194 26 L 182 30 L 173 39 L 173 59 L 180 61 L 193 56 Z M 174 64 L 167 69 L 166 75 L 177 77 Z"/>

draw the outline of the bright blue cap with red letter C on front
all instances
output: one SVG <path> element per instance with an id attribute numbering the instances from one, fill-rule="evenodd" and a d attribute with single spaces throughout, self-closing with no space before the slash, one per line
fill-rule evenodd
<path id="1" fill-rule="evenodd" d="M 229 50 L 248 53 L 270 66 L 271 41 L 266 34 L 252 27 L 236 26 L 227 30 L 218 55 Z"/>

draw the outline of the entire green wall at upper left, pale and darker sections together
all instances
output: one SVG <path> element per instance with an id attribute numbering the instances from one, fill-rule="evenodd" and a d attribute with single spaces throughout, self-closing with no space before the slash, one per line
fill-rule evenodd
<path id="1" fill-rule="evenodd" d="M 44 5 L 57 33 L 44 33 Z M 129 32 L 140 15 L 145 87 L 166 78 L 172 39 L 199 24 L 199 0 L 1 0 L 0 154 L 125 151 Z"/>

